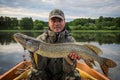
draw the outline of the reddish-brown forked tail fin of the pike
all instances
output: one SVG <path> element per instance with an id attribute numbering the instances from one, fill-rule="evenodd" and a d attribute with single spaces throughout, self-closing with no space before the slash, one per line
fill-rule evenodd
<path id="1" fill-rule="evenodd" d="M 103 59 L 103 64 L 101 64 L 101 69 L 103 71 L 103 73 L 108 76 L 108 68 L 113 68 L 113 67 L 116 67 L 117 64 L 110 60 L 110 59 L 107 59 L 107 58 L 102 58 Z"/>

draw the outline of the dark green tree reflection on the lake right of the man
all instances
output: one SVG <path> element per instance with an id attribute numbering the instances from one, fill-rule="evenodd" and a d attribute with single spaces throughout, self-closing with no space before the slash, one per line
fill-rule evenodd
<path id="1" fill-rule="evenodd" d="M 120 33 L 112 32 L 81 32 L 72 33 L 78 42 L 98 42 L 99 44 L 119 44 Z"/>

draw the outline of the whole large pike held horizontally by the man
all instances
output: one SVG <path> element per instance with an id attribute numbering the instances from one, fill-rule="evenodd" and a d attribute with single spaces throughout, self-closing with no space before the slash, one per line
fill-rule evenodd
<path id="1" fill-rule="evenodd" d="M 21 33 L 16 33 L 13 37 L 15 41 L 20 43 L 28 51 L 36 52 L 44 57 L 67 58 L 71 52 L 74 52 L 86 62 L 97 61 L 106 76 L 108 75 L 108 68 L 116 66 L 114 61 L 100 57 L 98 54 L 102 53 L 102 51 L 94 45 L 82 45 L 77 42 L 50 44 Z"/>

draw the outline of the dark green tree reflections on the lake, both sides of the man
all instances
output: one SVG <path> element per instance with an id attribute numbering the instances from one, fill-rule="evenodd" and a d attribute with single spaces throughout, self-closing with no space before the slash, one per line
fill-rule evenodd
<path id="1" fill-rule="evenodd" d="M 0 33 L 0 43 L 2 45 L 7 45 L 10 44 L 11 42 L 14 42 L 12 35 L 14 33 Z M 41 34 L 41 32 L 39 33 L 24 33 L 26 35 L 32 36 L 32 37 L 37 37 L 38 35 Z M 78 42 L 98 42 L 100 45 L 102 44 L 119 44 L 120 43 L 120 33 L 109 33 L 109 32 L 104 32 L 104 33 L 100 33 L 100 32 L 77 32 L 77 33 L 72 33 L 72 36 L 75 37 L 75 39 Z"/>

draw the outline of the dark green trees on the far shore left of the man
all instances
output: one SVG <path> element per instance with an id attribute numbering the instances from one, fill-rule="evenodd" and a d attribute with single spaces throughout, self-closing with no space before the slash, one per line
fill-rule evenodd
<path id="1" fill-rule="evenodd" d="M 43 30 L 47 22 L 24 17 L 21 20 L 12 17 L 0 17 L 0 30 Z"/>

